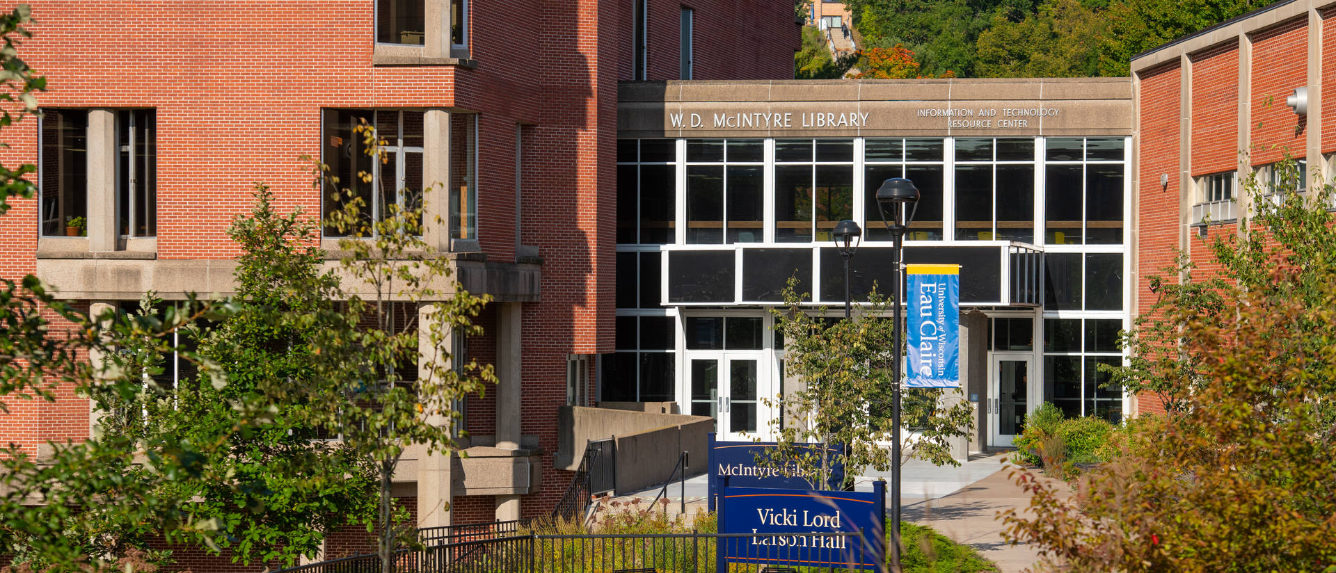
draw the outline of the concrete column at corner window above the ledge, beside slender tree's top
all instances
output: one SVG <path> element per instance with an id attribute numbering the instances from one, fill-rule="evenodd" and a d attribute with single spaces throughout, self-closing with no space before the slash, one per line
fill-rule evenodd
<path id="1" fill-rule="evenodd" d="M 429 1 L 429 11 L 432 4 L 442 3 Z M 429 25 L 428 44 L 430 33 Z M 422 180 L 428 186 L 422 196 L 422 223 L 426 227 L 422 239 L 445 252 L 450 250 L 450 112 L 428 110 L 422 116 Z"/>

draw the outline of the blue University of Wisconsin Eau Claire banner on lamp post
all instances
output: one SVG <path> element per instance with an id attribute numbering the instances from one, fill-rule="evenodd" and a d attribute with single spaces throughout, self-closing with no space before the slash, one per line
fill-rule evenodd
<path id="1" fill-rule="evenodd" d="M 908 387 L 961 387 L 961 266 L 906 264 Z"/>

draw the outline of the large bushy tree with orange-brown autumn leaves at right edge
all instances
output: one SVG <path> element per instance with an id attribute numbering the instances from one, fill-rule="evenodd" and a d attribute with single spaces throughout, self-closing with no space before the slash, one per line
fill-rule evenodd
<path id="1" fill-rule="evenodd" d="M 1336 218 L 1331 186 L 1307 194 L 1291 162 L 1279 188 L 1246 184 L 1248 230 L 1153 280 L 1154 309 L 1116 369 L 1168 414 L 1138 418 L 1120 455 L 1065 498 L 1029 471 L 1011 540 L 1057 570 L 1319 570 L 1336 562 Z"/>

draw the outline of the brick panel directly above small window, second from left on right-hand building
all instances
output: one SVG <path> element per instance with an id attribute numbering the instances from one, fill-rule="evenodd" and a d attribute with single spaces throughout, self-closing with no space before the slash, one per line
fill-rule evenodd
<path id="1" fill-rule="evenodd" d="M 1237 167 L 1238 44 L 1230 43 L 1192 59 L 1192 175 Z"/>

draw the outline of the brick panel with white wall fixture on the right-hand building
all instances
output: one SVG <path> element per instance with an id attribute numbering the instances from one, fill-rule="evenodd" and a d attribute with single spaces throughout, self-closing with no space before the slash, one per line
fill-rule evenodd
<path id="1" fill-rule="evenodd" d="M 1308 84 L 1308 20 L 1299 17 L 1253 35 L 1252 164 L 1304 154 L 1304 116 L 1285 98 Z M 1196 147 L 1196 146 L 1193 146 Z"/>

